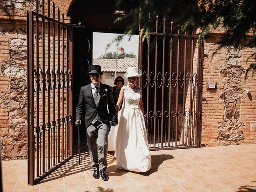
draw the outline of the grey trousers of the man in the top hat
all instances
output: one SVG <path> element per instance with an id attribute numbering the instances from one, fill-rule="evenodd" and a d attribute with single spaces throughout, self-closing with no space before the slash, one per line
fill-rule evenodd
<path id="1" fill-rule="evenodd" d="M 86 129 L 86 137 L 92 160 L 92 168 L 94 170 L 106 170 L 108 166 L 108 126 L 96 120 L 96 122 L 90 124 Z M 99 159 L 97 145 L 99 146 Z"/>

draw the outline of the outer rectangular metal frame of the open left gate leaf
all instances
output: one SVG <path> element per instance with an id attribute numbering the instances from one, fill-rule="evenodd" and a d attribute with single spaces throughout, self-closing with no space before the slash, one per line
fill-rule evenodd
<path id="1" fill-rule="evenodd" d="M 71 85 L 72 82 L 72 74 L 73 74 L 73 26 L 65 24 L 64 23 L 64 15 L 62 15 L 63 22 L 60 22 L 60 20 L 55 20 L 55 18 L 50 18 L 50 1 L 48 0 L 48 16 L 38 13 L 38 0 L 36 0 L 36 12 L 34 11 L 27 11 L 27 87 L 28 87 L 28 184 L 34 185 L 46 176 L 48 176 L 50 173 L 52 173 L 54 170 L 62 166 L 64 163 L 66 163 L 68 160 L 70 160 L 73 157 L 73 121 L 72 118 L 74 117 L 74 110 L 73 110 L 73 85 Z M 53 7 L 55 9 L 54 3 Z M 43 0 L 43 10 L 44 10 L 44 0 Z M 59 10 L 58 10 L 59 14 Z M 38 178 L 34 178 L 34 16 L 36 16 L 36 27 L 38 28 L 38 18 L 42 19 L 42 23 L 45 23 L 45 20 L 48 21 L 48 24 L 50 22 L 55 24 L 59 24 L 63 27 L 69 28 L 70 30 L 66 30 L 66 69 L 70 70 L 68 72 L 68 75 L 71 74 L 71 76 L 67 76 L 66 81 L 67 88 L 66 88 L 66 112 L 67 112 L 67 131 L 69 132 L 68 136 L 66 137 L 66 144 L 67 144 L 67 151 L 66 151 L 66 159 L 64 159 L 62 162 L 54 165 L 52 168 L 50 168 L 48 171 L 44 172 L 42 175 L 40 175 Z M 55 17 L 55 16 L 54 16 Z M 43 25 L 44 26 L 44 25 Z M 42 28 L 44 31 L 44 28 Z M 36 35 L 38 37 L 38 31 L 36 32 Z M 36 45 L 38 46 L 38 45 Z M 44 45 L 43 45 L 44 46 Z M 54 45 L 55 46 L 55 45 Z M 49 47 L 49 45 L 48 45 Z M 38 49 L 37 49 L 38 50 Z M 36 53 L 37 54 L 37 53 Z M 44 64 L 43 64 L 44 65 Z M 45 76 L 44 76 L 45 78 Z M 45 80 L 45 79 L 44 79 Z M 65 82 L 63 82 L 64 84 Z M 45 83 L 44 83 L 45 84 Z M 71 86 L 70 86 L 71 85 Z M 39 85 L 38 85 L 39 86 Z M 64 85 L 63 85 L 64 86 Z M 59 109 L 60 110 L 60 109 Z M 38 128 L 37 128 L 38 129 Z"/>

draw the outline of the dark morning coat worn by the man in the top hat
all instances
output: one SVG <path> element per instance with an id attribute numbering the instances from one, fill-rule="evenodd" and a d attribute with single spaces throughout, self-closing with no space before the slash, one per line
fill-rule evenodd
<path id="1" fill-rule="evenodd" d="M 97 107 L 92 96 L 91 84 L 81 87 L 78 105 L 76 107 L 76 120 L 81 119 L 82 111 L 85 110 L 84 123 L 85 127 L 88 128 L 88 126 L 96 116 L 96 113 L 98 113 L 102 122 L 106 124 L 110 129 L 109 120 L 112 120 L 113 122 L 118 122 L 115 104 L 111 93 L 111 86 L 100 82 L 99 94 L 100 101 Z M 111 114 L 110 116 L 108 114 L 107 105 L 108 110 Z M 112 119 L 109 119 L 109 117 L 112 117 Z"/>

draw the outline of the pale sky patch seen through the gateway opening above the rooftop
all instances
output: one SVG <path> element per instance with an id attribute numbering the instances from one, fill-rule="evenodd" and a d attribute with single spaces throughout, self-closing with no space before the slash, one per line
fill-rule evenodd
<path id="1" fill-rule="evenodd" d="M 94 59 L 100 57 L 100 55 L 105 54 L 106 45 L 119 34 L 114 33 L 93 33 L 92 43 L 92 57 Z M 118 48 L 124 48 L 125 53 L 134 53 L 138 58 L 138 46 L 139 46 L 139 36 L 133 35 L 130 41 L 128 40 L 129 36 L 125 36 L 124 40 L 120 43 Z M 116 44 L 112 44 L 111 47 L 108 49 L 108 52 L 115 52 L 116 51 Z"/>

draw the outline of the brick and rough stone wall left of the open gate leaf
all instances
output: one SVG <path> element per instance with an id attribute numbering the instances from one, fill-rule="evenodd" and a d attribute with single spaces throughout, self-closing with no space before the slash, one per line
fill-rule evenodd
<path id="1" fill-rule="evenodd" d="M 52 12 L 52 0 L 51 12 Z M 66 15 L 71 0 L 55 1 Z M 35 1 L 3 0 L 0 10 L 0 135 L 2 158 L 27 158 L 26 11 Z M 47 7 L 47 1 L 46 1 Z M 46 11 L 47 13 L 47 11 Z M 56 11 L 57 13 L 57 11 Z M 68 18 L 66 18 L 68 19 Z M 66 20 L 65 22 L 69 22 Z"/>

